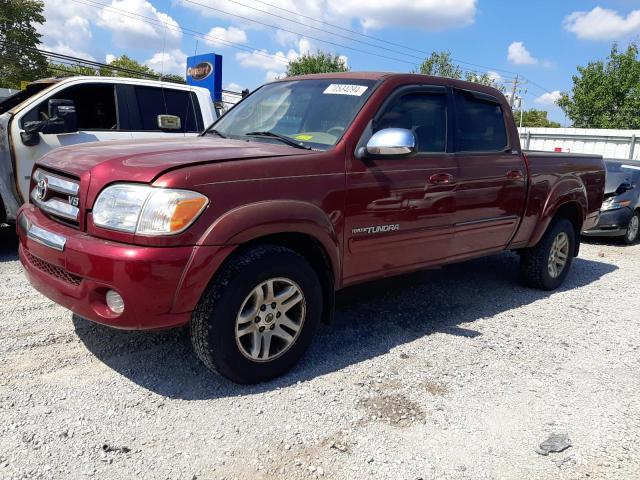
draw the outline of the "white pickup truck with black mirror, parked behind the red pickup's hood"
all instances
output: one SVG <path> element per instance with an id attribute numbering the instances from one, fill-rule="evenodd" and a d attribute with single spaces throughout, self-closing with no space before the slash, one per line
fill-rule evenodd
<path id="1" fill-rule="evenodd" d="M 205 88 L 120 77 L 39 80 L 0 101 L 0 224 L 29 202 L 34 163 L 78 143 L 196 136 L 218 117 Z"/>

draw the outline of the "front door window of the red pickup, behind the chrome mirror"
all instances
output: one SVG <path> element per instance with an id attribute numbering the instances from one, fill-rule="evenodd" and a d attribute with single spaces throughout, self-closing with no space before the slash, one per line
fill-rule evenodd
<path id="1" fill-rule="evenodd" d="M 419 152 L 444 152 L 447 146 L 447 96 L 432 93 L 402 95 L 378 118 L 373 132 L 383 128 L 413 131 Z"/>

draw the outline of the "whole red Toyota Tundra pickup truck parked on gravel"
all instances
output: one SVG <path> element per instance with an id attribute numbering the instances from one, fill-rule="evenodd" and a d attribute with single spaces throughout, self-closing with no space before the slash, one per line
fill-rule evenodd
<path id="1" fill-rule="evenodd" d="M 604 186 L 598 156 L 523 153 L 492 88 L 311 75 L 259 88 L 198 138 L 47 154 L 20 259 L 78 315 L 188 324 L 210 369 L 252 383 L 292 367 L 358 282 L 510 249 L 529 285 L 557 288 Z"/>

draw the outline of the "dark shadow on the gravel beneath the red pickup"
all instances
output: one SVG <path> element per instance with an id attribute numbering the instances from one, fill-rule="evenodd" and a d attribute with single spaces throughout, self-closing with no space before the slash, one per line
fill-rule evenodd
<path id="1" fill-rule="evenodd" d="M 577 258 L 559 291 L 582 287 L 616 269 Z M 206 370 L 191 352 L 186 329 L 125 332 L 79 317 L 73 322 L 86 347 L 132 382 L 167 397 L 196 400 L 286 387 L 434 332 L 473 341 L 481 334 L 460 324 L 550 295 L 521 285 L 518 258 L 511 253 L 351 287 L 338 294 L 334 323 L 320 328 L 303 361 L 289 374 L 256 386 L 238 386 Z"/>

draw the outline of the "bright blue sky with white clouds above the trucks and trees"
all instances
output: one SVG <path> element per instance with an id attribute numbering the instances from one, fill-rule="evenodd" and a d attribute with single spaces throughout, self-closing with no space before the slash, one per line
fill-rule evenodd
<path id="1" fill-rule="evenodd" d="M 489 72 L 524 108 L 548 110 L 576 67 L 640 38 L 640 0 L 44 0 L 41 48 L 109 62 L 126 54 L 184 75 L 186 57 L 223 56 L 223 86 L 254 89 L 290 59 L 323 50 L 352 70 L 408 72 L 432 51 Z"/>

